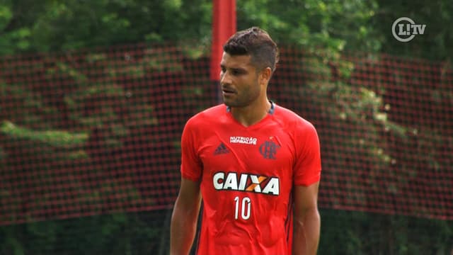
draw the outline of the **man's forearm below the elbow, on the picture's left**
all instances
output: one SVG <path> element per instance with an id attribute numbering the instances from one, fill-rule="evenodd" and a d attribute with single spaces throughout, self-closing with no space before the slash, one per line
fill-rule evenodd
<path id="1" fill-rule="evenodd" d="M 171 216 L 170 254 L 188 254 L 197 229 L 197 212 L 185 211 L 178 205 Z"/>

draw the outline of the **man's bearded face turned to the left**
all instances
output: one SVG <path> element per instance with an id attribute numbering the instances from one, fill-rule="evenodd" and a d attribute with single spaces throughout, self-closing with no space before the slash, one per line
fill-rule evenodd
<path id="1" fill-rule="evenodd" d="M 262 94 L 256 67 L 249 55 L 229 55 L 224 52 L 220 62 L 220 85 L 226 106 L 246 107 Z"/>

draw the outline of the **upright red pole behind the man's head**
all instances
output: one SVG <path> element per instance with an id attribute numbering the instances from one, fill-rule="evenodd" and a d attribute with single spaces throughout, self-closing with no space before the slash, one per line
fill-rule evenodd
<path id="1" fill-rule="evenodd" d="M 220 61 L 223 45 L 236 33 L 236 0 L 213 0 L 212 8 L 212 51 L 210 77 L 219 81 Z"/>

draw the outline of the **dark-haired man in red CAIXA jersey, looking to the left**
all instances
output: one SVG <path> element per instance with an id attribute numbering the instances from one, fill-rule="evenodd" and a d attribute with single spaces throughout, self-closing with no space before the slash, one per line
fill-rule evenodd
<path id="1" fill-rule="evenodd" d="M 197 254 L 316 254 L 319 139 L 311 123 L 268 100 L 277 61 L 277 45 L 260 28 L 224 45 L 224 104 L 183 130 L 171 254 L 190 251 L 201 200 Z"/>

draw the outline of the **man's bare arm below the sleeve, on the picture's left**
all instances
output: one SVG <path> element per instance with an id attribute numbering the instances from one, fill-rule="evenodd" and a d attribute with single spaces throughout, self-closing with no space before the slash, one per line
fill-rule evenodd
<path id="1" fill-rule="evenodd" d="M 200 183 L 181 179 L 178 198 L 171 215 L 170 254 L 188 254 L 195 238 L 200 212 Z"/>

